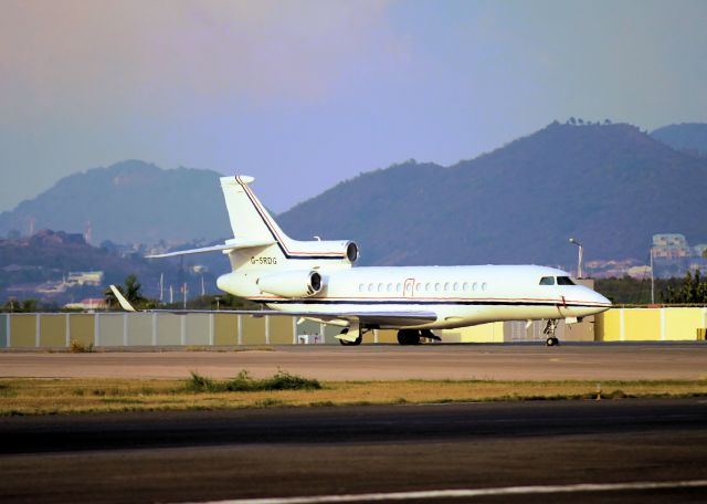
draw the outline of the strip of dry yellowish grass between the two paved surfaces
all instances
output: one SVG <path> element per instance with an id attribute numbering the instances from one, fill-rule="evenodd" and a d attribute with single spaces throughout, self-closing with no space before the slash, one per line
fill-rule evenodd
<path id="1" fill-rule="evenodd" d="M 184 380 L 0 379 L 0 414 L 595 399 L 594 381 L 334 381 L 310 390 L 190 391 Z M 217 381 L 217 380 L 212 380 Z M 605 381 L 602 399 L 707 396 L 707 380 Z"/>

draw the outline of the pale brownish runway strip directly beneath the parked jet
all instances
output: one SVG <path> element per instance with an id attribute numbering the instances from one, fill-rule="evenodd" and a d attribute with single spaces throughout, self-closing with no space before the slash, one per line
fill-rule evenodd
<path id="1" fill-rule="evenodd" d="M 0 353 L 2 377 L 214 378 L 278 369 L 323 380 L 704 379 L 707 344 L 283 346 L 239 351 Z"/>

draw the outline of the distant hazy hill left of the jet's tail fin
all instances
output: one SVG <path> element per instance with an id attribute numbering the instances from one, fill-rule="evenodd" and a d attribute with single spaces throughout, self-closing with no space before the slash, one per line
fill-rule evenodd
<path id="1" fill-rule="evenodd" d="M 124 161 L 66 177 L 14 210 L 0 213 L 0 235 L 34 229 L 83 233 L 92 243 L 156 243 L 214 240 L 230 232 L 220 174 L 179 168 L 162 170 Z M 194 211 L 198 209 L 198 211 Z"/>

